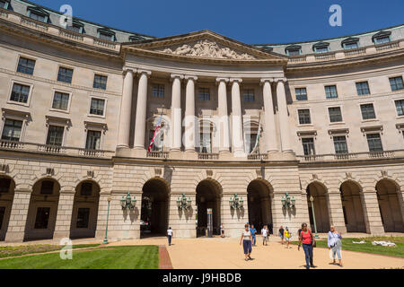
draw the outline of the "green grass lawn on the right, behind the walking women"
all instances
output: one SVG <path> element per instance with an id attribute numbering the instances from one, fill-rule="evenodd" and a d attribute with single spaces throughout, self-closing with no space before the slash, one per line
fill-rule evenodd
<path id="1" fill-rule="evenodd" d="M 364 244 L 355 244 L 352 241 L 359 242 L 364 240 Z M 396 247 L 373 246 L 372 241 L 391 241 Z M 299 242 L 292 242 L 298 244 Z M 317 240 L 317 247 L 328 248 L 327 240 Z M 342 250 L 360 251 L 366 253 L 374 253 L 387 255 L 391 257 L 404 257 L 404 237 L 368 237 L 363 239 L 342 239 Z"/>

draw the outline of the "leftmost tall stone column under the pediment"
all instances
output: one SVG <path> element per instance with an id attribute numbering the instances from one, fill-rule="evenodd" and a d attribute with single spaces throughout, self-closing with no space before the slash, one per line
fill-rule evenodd
<path id="1" fill-rule="evenodd" d="M 122 100 L 120 103 L 119 134 L 117 147 L 129 147 L 130 117 L 132 113 L 133 71 L 124 72 Z"/>

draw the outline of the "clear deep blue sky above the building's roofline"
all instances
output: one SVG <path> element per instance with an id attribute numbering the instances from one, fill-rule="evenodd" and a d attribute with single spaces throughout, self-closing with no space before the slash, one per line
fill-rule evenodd
<path id="1" fill-rule="evenodd" d="M 213 30 L 249 44 L 340 37 L 404 23 L 404 0 L 31 0 L 113 28 L 155 37 Z M 329 6 L 342 26 L 329 25 Z"/>

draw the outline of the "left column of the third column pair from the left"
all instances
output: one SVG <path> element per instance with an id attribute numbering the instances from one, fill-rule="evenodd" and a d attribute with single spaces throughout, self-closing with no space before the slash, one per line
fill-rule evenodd
<path id="1" fill-rule="evenodd" d="M 218 127 L 220 135 L 219 152 L 229 152 L 230 149 L 230 130 L 229 130 L 229 115 L 227 113 L 227 88 L 226 83 L 229 81 L 227 78 L 217 78 L 216 82 L 219 83 L 217 90 L 218 94 Z"/>

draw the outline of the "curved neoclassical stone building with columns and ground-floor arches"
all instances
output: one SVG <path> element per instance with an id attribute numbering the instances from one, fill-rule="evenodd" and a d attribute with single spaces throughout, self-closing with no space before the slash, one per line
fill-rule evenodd
<path id="1" fill-rule="evenodd" d="M 110 239 L 194 238 L 207 208 L 228 236 L 403 232 L 403 74 L 404 25 L 249 45 L 0 0 L 0 239 L 101 239 L 109 202 Z"/>

